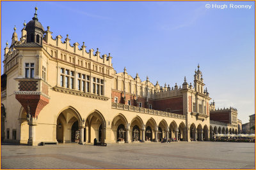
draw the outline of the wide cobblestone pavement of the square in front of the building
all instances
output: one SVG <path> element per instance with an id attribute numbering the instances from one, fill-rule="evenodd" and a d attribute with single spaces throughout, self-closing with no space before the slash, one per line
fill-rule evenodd
<path id="1" fill-rule="evenodd" d="M 255 169 L 255 143 L 2 145 L 1 169 Z"/>

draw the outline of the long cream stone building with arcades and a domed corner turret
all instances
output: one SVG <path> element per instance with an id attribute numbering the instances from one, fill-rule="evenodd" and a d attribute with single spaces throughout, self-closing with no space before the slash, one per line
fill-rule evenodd
<path id="1" fill-rule="evenodd" d="M 37 10 L 37 8 L 35 8 Z M 1 139 L 39 145 L 209 140 L 237 133 L 237 110 L 215 109 L 198 65 L 194 83 L 154 85 L 136 74 L 116 73 L 112 57 L 97 49 L 52 38 L 33 20 L 16 28 L 4 48 Z M 167 76 L 167 75 L 166 75 Z"/>

